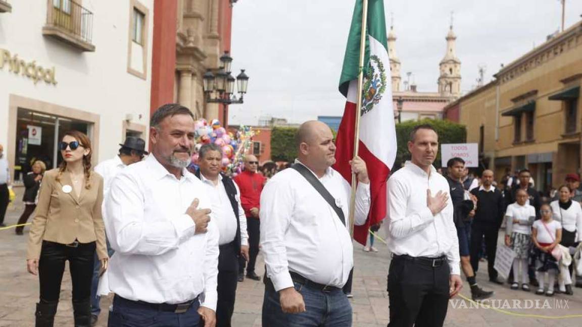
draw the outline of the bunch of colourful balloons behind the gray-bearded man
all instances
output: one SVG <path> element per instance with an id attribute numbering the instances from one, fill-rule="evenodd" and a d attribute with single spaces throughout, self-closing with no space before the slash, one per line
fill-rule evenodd
<path id="1" fill-rule="evenodd" d="M 222 170 L 228 175 L 240 173 L 243 166 L 244 155 L 249 150 L 254 131 L 249 126 L 240 126 L 236 135 L 229 133 L 221 125 L 218 119 L 212 119 L 209 123 L 205 119 L 196 121 L 196 148 L 192 155 L 192 168 L 197 169 L 198 150 L 203 144 L 214 143 L 222 149 Z"/>

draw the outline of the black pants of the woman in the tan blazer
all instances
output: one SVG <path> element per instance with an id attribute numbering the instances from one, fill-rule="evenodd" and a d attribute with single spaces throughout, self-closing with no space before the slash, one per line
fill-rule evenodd
<path id="1" fill-rule="evenodd" d="M 73 303 L 89 301 L 91 279 L 93 278 L 93 254 L 95 242 L 79 243 L 77 247 L 42 241 L 38 262 L 41 302 L 58 302 L 61 281 L 65 272 L 65 261 L 69 260 L 69 270 L 73 283 Z"/>

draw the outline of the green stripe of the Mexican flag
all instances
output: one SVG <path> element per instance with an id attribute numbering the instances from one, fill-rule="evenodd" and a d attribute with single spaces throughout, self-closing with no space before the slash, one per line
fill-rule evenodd
<path id="1" fill-rule="evenodd" d="M 356 0 L 352 25 L 347 37 L 346 54 L 343 57 L 342 75 L 339 78 L 339 91 L 347 97 L 349 82 L 358 78 L 360 63 L 360 33 L 362 26 L 363 0 Z M 368 0 L 367 34 L 375 38 L 388 51 L 386 40 L 386 18 L 384 13 L 384 0 Z M 364 75 L 367 73 L 370 62 L 370 45 L 365 41 Z"/>

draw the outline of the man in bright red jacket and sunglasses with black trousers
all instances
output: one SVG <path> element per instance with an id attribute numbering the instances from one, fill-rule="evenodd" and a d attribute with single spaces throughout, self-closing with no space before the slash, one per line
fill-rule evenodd
<path id="1" fill-rule="evenodd" d="M 258 159 L 254 155 L 244 157 L 244 170 L 233 180 L 240 189 L 240 204 L 247 216 L 247 232 L 249 232 L 249 263 L 247 264 L 247 278 L 260 280 L 260 276 L 254 271 L 258 254 L 258 241 L 260 237 L 259 220 L 260 199 L 262 187 L 265 184 L 265 177 L 258 170 Z M 239 261 L 239 282 L 244 280 L 244 265 L 246 261 L 240 258 Z"/>

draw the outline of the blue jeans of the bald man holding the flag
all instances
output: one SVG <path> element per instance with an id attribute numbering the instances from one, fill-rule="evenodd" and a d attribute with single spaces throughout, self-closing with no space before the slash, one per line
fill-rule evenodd
<path id="1" fill-rule="evenodd" d="M 310 286 L 293 282 L 295 290 L 303 296 L 305 312 L 286 314 L 281 310 L 279 293 L 271 285 L 265 286 L 262 302 L 264 327 L 351 327 L 352 305 L 342 289 L 322 292 Z"/>

